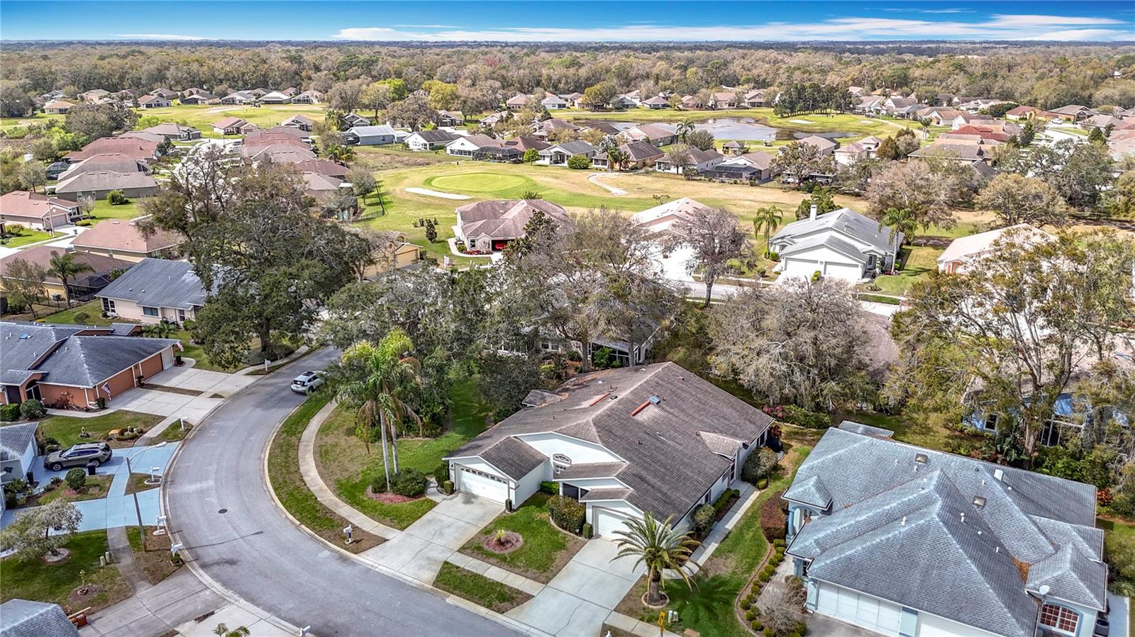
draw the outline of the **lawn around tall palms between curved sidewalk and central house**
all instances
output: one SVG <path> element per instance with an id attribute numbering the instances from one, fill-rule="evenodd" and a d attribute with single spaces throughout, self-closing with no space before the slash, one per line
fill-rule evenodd
<path id="1" fill-rule="evenodd" d="M 449 427 L 437 438 L 402 439 L 398 441 L 400 468 L 414 468 L 430 475 L 442 458 L 485 430 L 488 409 L 478 399 L 476 383 L 466 381 L 453 390 Z M 382 453 L 371 445 L 370 453 L 354 435 L 354 413 L 337 408 L 319 430 L 316 460 L 320 475 L 344 502 L 367 516 L 395 528 L 406 528 L 434 508 L 435 502 L 421 498 L 411 502 L 379 502 L 367 495 L 367 487 L 381 475 Z"/>

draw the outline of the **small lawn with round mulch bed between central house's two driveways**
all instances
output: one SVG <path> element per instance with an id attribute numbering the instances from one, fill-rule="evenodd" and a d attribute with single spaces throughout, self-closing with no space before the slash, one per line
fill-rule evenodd
<path id="1" fill-rule="evenodd" d="M 537 493 L 512 513 L 501 513 L 470 540 L 462 551 L 530 579 L 550 581 L 575 551 L 583 546 L 583 541 L 552 526 L 548 519 L 548 498 L 547 494 Z M 489 551 L 484 546 L 484 541 L 497 530 L 519 533 L 524 543 L 511 553 Z"/>

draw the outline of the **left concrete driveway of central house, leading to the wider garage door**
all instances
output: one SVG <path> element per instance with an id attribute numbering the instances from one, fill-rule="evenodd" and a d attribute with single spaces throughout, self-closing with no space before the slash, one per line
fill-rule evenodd
<path id="1" fill-rule="evenodd" d="M 445 560 L 502 511 L 502 504 L 459 491 L 392 540 L 361 555 L 429 584 Z"/>

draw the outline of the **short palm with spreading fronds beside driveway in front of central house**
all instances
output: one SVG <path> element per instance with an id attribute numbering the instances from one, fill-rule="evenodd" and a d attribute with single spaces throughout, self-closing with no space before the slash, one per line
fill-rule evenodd
<path id="1" fill-rule="evenodd" d="M 686 585 L 693 587 L 693 583 L 690 581 L 690 577 L 682 569 L 682 566 L 688 563 L 690 553 L 700 542 L 671 528 L 670 520 L 671 518 L 666 518 L 665 521 L 658 523 L 654 519 L 654 515 L 648 512 L 641 520 L 628 518 L 624 524 L 629 528 L 615 532 L 615 535 L 620 536 L 619 540 L 615 540 L 615 544 L 620 549 L 614 559 L 633 555 L 637 558 L 636 567 L 639 563 L 646 564 L 649 577 L 646 601 L 650 605 L 658 605 L 663 600 L 658 587 L 662 581 L 662 571 L 665 569 L 678 571 Z"/>

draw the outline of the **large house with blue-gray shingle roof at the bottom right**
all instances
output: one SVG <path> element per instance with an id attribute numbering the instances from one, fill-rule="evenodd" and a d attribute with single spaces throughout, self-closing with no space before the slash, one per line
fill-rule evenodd
<path id="1" fill-rule="evenodd" d="M 891 433 L 827 430 L 784 492 L 808 610 L 884 635 L 1094 634 L 1108 587 L 1095 486 Z"/>

